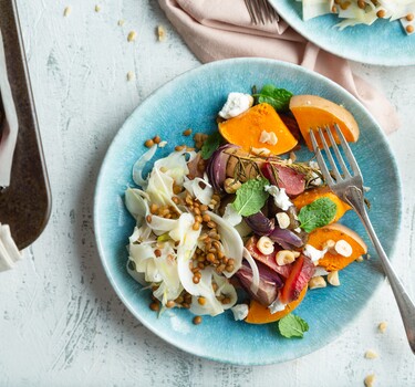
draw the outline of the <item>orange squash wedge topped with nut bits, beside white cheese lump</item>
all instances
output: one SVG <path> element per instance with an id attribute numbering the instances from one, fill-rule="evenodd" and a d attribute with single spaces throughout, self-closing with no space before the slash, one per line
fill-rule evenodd
<path id="1" fill-rule="evenodd" d="M 264 156 L 268 156 L 267 153 L 282 155 L 298 144 L 276 109 L 267 103 L 255 105 L 247 112 L 219 123 L 219 132 L 229 143 L 239 145 L 243 150 Z M 271 135 L 271 138 L 263 139 L 263 136 Z M 259 149 L 269 151 L 260 153 Z"/>

